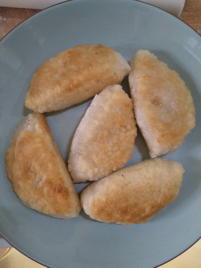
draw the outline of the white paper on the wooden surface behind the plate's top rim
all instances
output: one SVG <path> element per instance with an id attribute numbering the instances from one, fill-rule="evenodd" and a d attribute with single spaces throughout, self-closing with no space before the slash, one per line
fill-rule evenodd
<path id="1" fill-rule="evenodd" d="M 150 3 L 154 6 L 158 6 L 159 8 L 162 8 L 177 17 L 181 15 L 185 3 L 185 0 L 141 0 L 141 1 Z M 64 0 L 63 1 L 62 0 L 0 0 L 0 6 L 7 6 L 13 8 L 44 9 L 60 2 L 64 2 Z"/>

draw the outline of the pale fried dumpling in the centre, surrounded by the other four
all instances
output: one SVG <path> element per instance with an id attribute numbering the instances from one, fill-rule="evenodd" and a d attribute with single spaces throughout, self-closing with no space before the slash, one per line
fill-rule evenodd
<path id="1" fill-rule="evenodd" d="M 120 85 L 96 95 L 76 129 L 68 169 L 74 182 L 94 181 L 122 168 L 137 135 L 133 105 Z"/>

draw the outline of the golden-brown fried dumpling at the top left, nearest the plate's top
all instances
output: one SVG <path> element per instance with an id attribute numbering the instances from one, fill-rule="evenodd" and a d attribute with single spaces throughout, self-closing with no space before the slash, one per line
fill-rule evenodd
<path id="1" fill-rule="evenodd" d="M 40 113 L 64 109 L 118 84 L 128 75 L 125 59 L 109 47 L 80 45 L 58 53 L 35 72 L 25 106 Z"/>

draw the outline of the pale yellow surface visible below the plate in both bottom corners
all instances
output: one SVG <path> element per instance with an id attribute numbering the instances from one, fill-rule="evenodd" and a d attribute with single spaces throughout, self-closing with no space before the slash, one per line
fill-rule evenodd
<path id="1" fill-rule="evenodd" d="M 0 268 L 42 268 L 45 267 L 27 258 L 14 248 L 0 249 Z M 133 267 L 134 268 L 134 267 Z M 140 268 L 140 267 L 138 267 Z M 177 258 L 160 268 L 201 268 L 201 239 Z"/>

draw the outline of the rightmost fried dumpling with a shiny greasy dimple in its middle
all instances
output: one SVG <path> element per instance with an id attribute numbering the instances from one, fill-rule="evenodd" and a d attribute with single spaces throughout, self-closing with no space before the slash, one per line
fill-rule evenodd
<path id="1" fill-rule="evenodd" d="M 147 50 L 139 50 L 130 65 L 135 117 L 150 156 L 170 154 L 195 126 L 191 92 L 175 71 Z"/>

